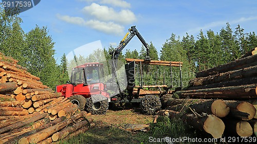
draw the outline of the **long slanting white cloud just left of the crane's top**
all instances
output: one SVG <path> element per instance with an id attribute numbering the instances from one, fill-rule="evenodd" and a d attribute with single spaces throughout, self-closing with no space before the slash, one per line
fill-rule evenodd
<path id="1" fill-rule="evenodd" d="M 112 22 L 100 22 L 99 20 L 84 20 L 82 17 L 73 17 L 68 15 L 56 15 L 58 19 L 63 20 L 64 22 L 80 25 L 80 26 L 87 26 L 93 28 L 98 31 L 102 31 L 108 34 L 116 34 L 122 35 L 124 31 L 124 27 L 118 24 L 114 24 Z"/>

